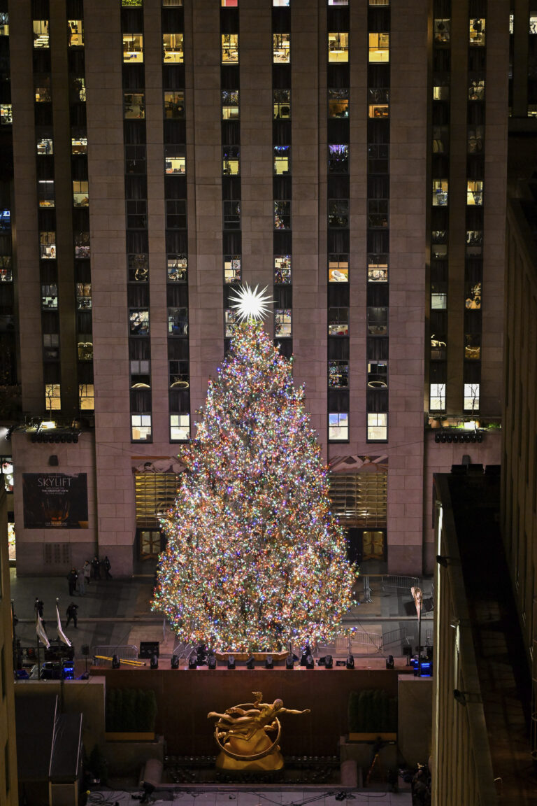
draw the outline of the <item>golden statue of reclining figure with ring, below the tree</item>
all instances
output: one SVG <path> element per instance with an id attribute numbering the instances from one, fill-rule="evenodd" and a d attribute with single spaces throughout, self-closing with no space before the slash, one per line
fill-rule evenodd
<path id="1" fill-rule="evenodd" d="M 225 713 L 211 711 L 208 719 L 217 719 L 214 737 L 220 747 L 217 767 L 221 770 L 281 770 L 283 756 L 279 749 L 283 713 L 310 713 L 283 708 L 282 700 L 262 703 L 262 692 L 252 692 L 253 703 L 228 708 Z"/>

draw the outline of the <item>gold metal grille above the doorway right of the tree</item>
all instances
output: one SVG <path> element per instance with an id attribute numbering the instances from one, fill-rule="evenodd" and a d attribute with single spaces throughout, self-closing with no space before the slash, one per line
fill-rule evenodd
<path id="1" fill-rule="evenodd" d="M 387 510 L 387 472 L 353 473 L 345 476 L 334 473 L 330 477 L 332 511 L 343 526 L 363 529 L 385 527 Z"/>

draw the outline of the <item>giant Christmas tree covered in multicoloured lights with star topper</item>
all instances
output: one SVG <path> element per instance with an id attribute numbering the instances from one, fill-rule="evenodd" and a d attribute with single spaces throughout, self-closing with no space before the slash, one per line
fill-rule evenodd
<path id="1" fill-rule="evenodd" d="M 242 302 L 263 303 L 256 291 L 243 289 Z M 333 638 L 356 571 L 329 510 L 304 391 L 250 307 L 237 307 L 246 321 L 179 455 L 186 469 L 163 521 L 152 605 L 184 641 L 275 651 Z"/>

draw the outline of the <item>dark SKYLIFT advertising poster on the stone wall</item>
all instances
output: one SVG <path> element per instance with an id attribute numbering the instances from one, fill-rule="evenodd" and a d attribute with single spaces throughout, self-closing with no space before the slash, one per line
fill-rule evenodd
<path id="1" fill-rule="evenodd" d="M 23 473 L 25 529 L 87 529 L 86 473 Z"/>

